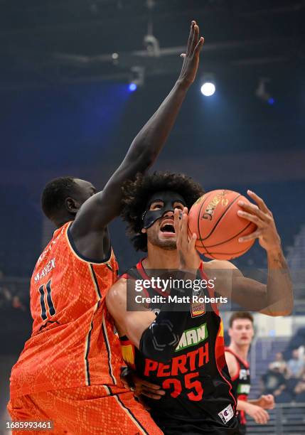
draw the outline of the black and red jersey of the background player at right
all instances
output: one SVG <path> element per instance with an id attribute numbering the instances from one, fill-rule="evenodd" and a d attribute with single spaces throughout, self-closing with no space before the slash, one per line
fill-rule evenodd
<path id="1" fill-rule="evenodd" d="M 225 348 L 225 352 L 232 353 L 235 356 L 238 370 L 235 377 L 232 377 L 233 390 L 237 396 L 237 399 L 247 401 L 250 393 L 250 365 L 247 361 L 242 360 L 235 352 L 230 348 Z M 245 418 L 245 411 L 239 411 L 237 415 L 240 421 L 240 426 L 245 426 L 247 423 Z M 242 428 L 241 428 L 242 429 Z"/>

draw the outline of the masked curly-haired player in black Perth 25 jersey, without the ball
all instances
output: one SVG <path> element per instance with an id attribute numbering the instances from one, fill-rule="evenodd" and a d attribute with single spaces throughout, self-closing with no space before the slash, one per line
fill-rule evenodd
<path id="1" fill-rule="evenodd" d="M 107 294 L 107 306 L 117 326 L 124 360 L 144 381 L 159 386 L 159 390 L 149 391 L 144 385 L 143 390 L 151 416 L 168 435 L 237 434 L 238 422 L 217 304 L 190 302 L 185 311 L 176 306 L 177 309 L 169 309 L 161 299 L 168 298 L 168 289 L 164 293 L 164 288 L 155 284 L 160 273 L 166 274 L 161 269 L 182 267 L 195 271 L 197 279 L 206 282 L 212 279 L 215 288 L 211 285 L 203 288 L 200 296 L 212 298 L 214 291 L 229 296 L 232 286 L 235 289 L 232 296 L 238 303 L 247 303 L 243 297 L 247 291 L 257 295 L 257 308 L 270 315 L 291 311 L 291 282 L 279 235 L 262 199 L 249 193 L 257 205 L 245 206 L 244 216 L 257 222 L 260 232 L 252 237 L 259 237 L 266 249 L 269 269 L 284 272 L 280 280 L 270 274 L 267 286 L 242 276 L 230 262 L 200 260 L 195 249 L 196 236 L 188 240 L 187 208 L 202 194 L 197 183 L 177 173 L 138 176 L 135 182 L 125 183 L 122 216 L 128 222 L 134 247 L 147 251 L 147 257 L 129 269 Z M 178 210 L 183 212 L 180 221 Z M 227 274 L 222 273 L 224 269 Z M 144 281 L 145 290 L 135 292 L 146 295 L 143 304 L 141 299 L 132 301 L 133 289 L 137 290 L 138 284 L 144 286 Z M 175 295 L 183 290 L 186 291 L 171 289 L 170 296 L 172 291 Z M 283 294 L 287 305 L 279 311 L 275 303 Z M 128 310 L 129 306 L 137 305 L 137 311 Z M 159 399 L 149 398 L 150 394 L 159 395 Z"/>

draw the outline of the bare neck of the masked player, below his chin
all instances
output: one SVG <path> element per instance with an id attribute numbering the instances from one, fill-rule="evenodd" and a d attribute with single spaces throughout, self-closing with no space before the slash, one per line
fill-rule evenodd
<path id="1" fill-rule="evenodd" d="M 178 253 L 176 249 L 166 250 L 150 245 L 148 255 L 143 260 L 143 266 L 145 269 L 178 269 Z"/>

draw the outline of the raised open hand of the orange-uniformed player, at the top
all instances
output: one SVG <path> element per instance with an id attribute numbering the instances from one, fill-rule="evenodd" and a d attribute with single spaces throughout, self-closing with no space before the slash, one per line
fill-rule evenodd
<path id="1" fill-rule="evenodd" d="M 183 65 L 179 76 L 179 80 L 181 80 L 187 86 L 191 85 L 195 80 L 199 65 L 199 54 L 201 48 L 203 47 L 203 43 L 203 36 L 199 38 L 199 27 L 196 24 L 196 21 L 192 21 L 186 53 L 181 54 L 181 58 L 183 58 Z"/>

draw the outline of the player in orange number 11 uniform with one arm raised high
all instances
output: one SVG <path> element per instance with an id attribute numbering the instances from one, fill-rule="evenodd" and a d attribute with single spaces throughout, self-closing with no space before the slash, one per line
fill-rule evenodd
<path id="1" fill-rule="evenodd" d="M 192 21 L 176 84 L 102 192 L 69 177 L 43 191 L 43 211 L 58 229 L 31 278 L 33 333 L 11 372 L 13 420 L 52 420 L 56 435 L 161 433 L 119 380 L 121 350 L 105 310 L 117 278 L 107 225 L 120 213 L 122 183 L 146 171 L 161 151 L 202 46 Z"/>

